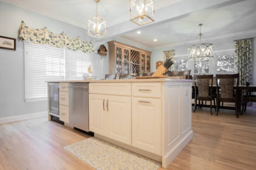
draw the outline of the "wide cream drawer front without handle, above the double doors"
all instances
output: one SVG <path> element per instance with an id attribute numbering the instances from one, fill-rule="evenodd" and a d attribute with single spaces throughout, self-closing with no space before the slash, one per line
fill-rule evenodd
<path id="1" fill-rule="evenodd" d="M 89 83 L 89 93 L 131 96 L 131 83 Z"/>

